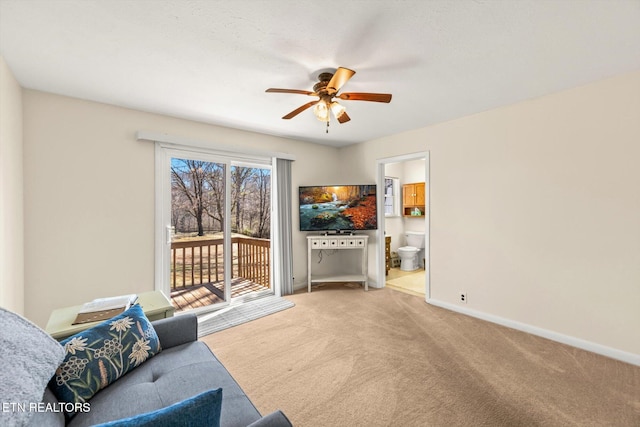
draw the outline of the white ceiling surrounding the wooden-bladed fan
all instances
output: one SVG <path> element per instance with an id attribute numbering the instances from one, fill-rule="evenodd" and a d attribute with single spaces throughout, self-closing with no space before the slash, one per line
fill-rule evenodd
<path id="1" fill-rule="evenodd" d="M 640 0 L 0 0 L 19 83 L 76 98 L 344 146 L 640 69 Z M 329 133 L 318 70 L 356 70 Z M 162 131 L 162 129 L 154 129 Z"/>

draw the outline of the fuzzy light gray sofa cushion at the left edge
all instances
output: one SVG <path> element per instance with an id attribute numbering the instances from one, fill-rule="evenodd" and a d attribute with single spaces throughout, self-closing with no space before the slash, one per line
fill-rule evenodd
<path id="1" fill-rule="evenodd" d="M 45 331 L 1 307 L 0 325 L 0 425 L 26 425 L 64 350 Z"/>

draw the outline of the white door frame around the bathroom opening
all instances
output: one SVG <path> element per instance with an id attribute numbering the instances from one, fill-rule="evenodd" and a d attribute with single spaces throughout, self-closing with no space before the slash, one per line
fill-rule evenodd
<path id="1" fill-rule="evenodd" d="M 377 193 L 380 195 L 377 200 L 378 204 L 378 230 L 376 231 L 376 241 L 380 242 L 378 245 L 378 273 L 377 276 L 379 278 L 379 288 L 384 288 L 386 286 L 386 274 L 385 274 L 385 245 L 384 245 L 384 229 L 385 229 L 385 216 L 384 216 L 384 178 L 385 178 L 385 167 L 389 163 L 400 163 L 406 162 L 410 160 L 423 160 L 424 159 L 424 202 L 425 202 L 425 212 L 424 212 L 424 295 L 425 301 L 428 302 L 431 299 L 431 255 L 430 255 L 430 247 L 431 247 L 431 237 L 430 237 L 430 212 L 431 212 L 431 198 L 429 197 L 429 189 L 431 187 L 431 180 L 429 178 L 429 151 L 404 154 L 401 156 L 394 157 L 385 157 L 382 159 L 378 159 L 376 161 L 377 164 L 377 178 L 376 178 L 376 186 Z M 402 199 L 402 198 L 401 198 Z"/>

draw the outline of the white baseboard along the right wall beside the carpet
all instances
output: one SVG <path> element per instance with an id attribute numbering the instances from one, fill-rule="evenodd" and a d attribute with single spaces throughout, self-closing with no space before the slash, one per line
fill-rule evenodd
<path id="1" fill-rule="evenodd" d="M 567 344 L 572 347 L 577 347 L 582 350 L 587 350 L 592 353 L 597 353 L 602 356 L 607 356 L 612 359 L 621 360 L 632 365 L 640 366 L 640 355 L 629 353 L 615 348 L 607 347 L 604 345 L 596 344 L 590 341 L 586 341 L 580 338 L 572 337 L 569 335 L 560 334 L 558 332 L 550 331 L 537 326 L 528 325 L 526 323 L 517 322 L 515 320 L 505 319 L 503 317 L 494 316 L 492 314 L 483 313 L 481 311 L 472 310 L 466 307 L 460 307 L 455 304 L 451 304 L 444 301 L 438 301 L 435 299 L 426 300 L 427 303 L 435 305 L 437 307 L 445 308 L 447 310 L 455 311 L 467 316 L 475 317 L 478 319 L 486 320 L 488 322 L 497 323 L 498 325 L 506 326 L 511 329 L 527 332 L 532 335 L 547 338 L 552 341 L 556 341 L 562 344 Z"/>

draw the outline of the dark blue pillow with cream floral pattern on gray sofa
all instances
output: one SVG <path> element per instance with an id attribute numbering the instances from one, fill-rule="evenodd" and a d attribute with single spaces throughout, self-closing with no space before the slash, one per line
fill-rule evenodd
<path id="1" fill-rule="evenodd" d="M 49 387 L 58 400 L 74 404 L 88 401 L 162 350 L 156 331 L 137 304 L 60 344 L 66 355 Z"/>

